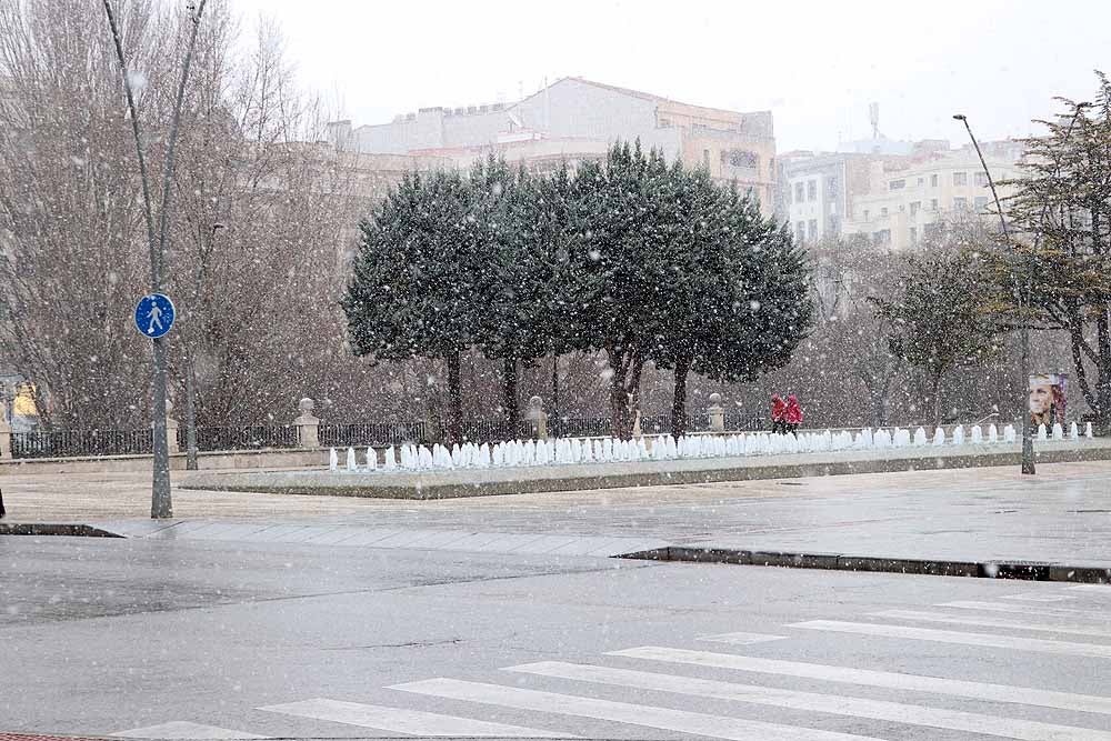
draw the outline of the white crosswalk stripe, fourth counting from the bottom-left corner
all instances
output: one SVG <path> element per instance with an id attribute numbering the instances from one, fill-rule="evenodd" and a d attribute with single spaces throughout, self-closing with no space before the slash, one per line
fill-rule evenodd
<path id="1" fill-rule="evenodd" d="M 868 718 L 892 723 L 942 728 L 964 733 L 998 735 L 1022 741 L 1111 741 L 1111 732 L 1073 725 L 1000 718 L 959 710 L 869 700 L 864 698 L 783 690 L 759 684 L 739 684 L 692 677 L 675 677 L 631 669 L 612 669 L 562 661 L 541 661 L 509 667 L 509 671 L 558 677 L 580 682 L 595 682 L 638 690 L 653 690 L 718 700 L 734 700 L 775 708 L 789 708 L 851 718 Z"/>

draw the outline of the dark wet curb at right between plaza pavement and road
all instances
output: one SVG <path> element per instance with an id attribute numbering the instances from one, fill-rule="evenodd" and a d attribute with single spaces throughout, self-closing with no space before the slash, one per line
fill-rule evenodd
<path id="1" fill-rule="evenodd" d="M 683 561 L 688 563 L 824 569 L 829 571 L 873 571 L 927 577 L 971 577 L 978 579 L 1020 579 L 1025 581 L 1111 584 L 1111 567 L 1080 567 L 1049 561 L 891 559 L 873 555 L 844 555 L 842 553 L 750 551 L 732 548 L 692 548 L 683 545 L 670 545 L 634 553 L 622 553 L 615 558 L 642 561 Z"/>

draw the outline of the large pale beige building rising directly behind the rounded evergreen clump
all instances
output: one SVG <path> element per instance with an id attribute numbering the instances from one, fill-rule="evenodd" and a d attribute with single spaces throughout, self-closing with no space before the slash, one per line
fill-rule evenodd
<path id="1" fill-rule="evenodd" d="M 669 161 L 737 182 L 772 212 L 775 138 L 770 111 L 692 106 L 661 96 L 563 78 L 514 103 L 422 108 L 389 123 L 336 121 L 329 141 L 364 154 L 450 161 L 467 168 L 490 153 L 539 171 L 601 160 L 614 141 L 640 140 Z"/>

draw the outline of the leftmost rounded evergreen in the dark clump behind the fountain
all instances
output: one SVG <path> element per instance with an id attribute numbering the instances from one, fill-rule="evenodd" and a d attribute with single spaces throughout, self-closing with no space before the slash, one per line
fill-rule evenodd
<path id="1" fill-rule="evenodd" d="M 454 172 L 407 174 L 360 224 L 361 248 L 341 304 L 351 348 L 376 360 L 443 360 L 448 437 L 461 435 L 460 353 L 480 322 L 473 191 Z"/>

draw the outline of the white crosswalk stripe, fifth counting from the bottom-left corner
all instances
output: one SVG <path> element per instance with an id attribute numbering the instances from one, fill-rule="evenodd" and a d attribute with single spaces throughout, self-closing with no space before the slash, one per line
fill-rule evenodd
<path id="1" fill-rule="evenodd" d="M 1111 715 L 1111 698 L 1094 694 L 1073 694 L 1071 692 L 1054 692 L 1052 690 L 1038 690 L 1027 687 L 988 684 L 967 680 L 942 679 L 940 677 L 903 674 L 872 669 L 855 669 L 852 667 L 830 667 L 827 664 L 784 661 L 780 659 L 757 659 L 734 653 L 689 651 L 658 645 L 610 651 L 608 655 L 691 664 L 694 667 L 712 667 L 714 669 L 733 669 L 760 674 L 782 674 L 784 677 L 799 677 L 824 682 L 859 684 L 888 690 L 931 692 L 933 694 L 950 694 L 961 698 L 987 700 L 989 702 L 1007 702 Z"/>

